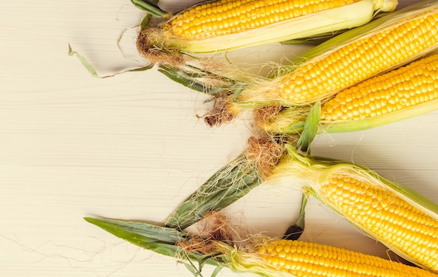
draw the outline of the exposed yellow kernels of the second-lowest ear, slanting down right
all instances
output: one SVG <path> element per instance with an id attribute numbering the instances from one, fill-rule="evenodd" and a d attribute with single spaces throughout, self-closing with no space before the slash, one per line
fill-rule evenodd
<path id="1" fill-rule="evenodd" d="M 334 173 L 319 197 L 390 248 L 438 271 L 438 221 L 384 187 Z"/>

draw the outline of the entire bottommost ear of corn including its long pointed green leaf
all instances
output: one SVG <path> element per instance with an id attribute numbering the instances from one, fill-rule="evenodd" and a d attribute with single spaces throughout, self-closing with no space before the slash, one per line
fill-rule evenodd
<path id="1" fill-rule="evenodd" d="M 157 227 L 143 222 L 126 222 L 85 218 L 88 222 L 105 229 L 115 236 L 137 246 L 153 250 L 162 255 L 176 257 L 195 276 L 205 264 L 221 269 L 228 267 L 238 273 L 253 273 L 260 276 L 376 276 L 376 277 L 429 277 L 437 276 L 432 272 L 411 267 L 399 262 L 384 260 L 372 255 L 364 255 L 351 250 L 308 243 L 304 241 L 276 240 L 260 236 L 248 248 L 230 246 L 233 243 L 209 240 L 213 251 L 200 253 L 196 250 L 185 251 L 179 246 L 190 236 L 175 229 Z M 196 267 L 192 262 L 198 262 Z M 196 269 L 194 269 L 196 267 Z M 215 271 L 217 273 L 217 271 Z"/>

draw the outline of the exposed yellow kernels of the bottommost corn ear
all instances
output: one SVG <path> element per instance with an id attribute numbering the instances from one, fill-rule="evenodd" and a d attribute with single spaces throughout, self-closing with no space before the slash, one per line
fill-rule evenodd
<path id="1" fill-rule="evenodd" d="M 271 241 L 260 247 L 258 253 L 278 271 L 293 276 L 437 276 L 424 269 L 380 257 L 304 241 Z"/>

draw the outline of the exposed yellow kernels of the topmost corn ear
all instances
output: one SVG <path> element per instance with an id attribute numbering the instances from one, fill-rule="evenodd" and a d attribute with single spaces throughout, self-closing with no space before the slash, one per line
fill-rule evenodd
<path id="1" fill-rule="evenodd" d="M 174 36 L 190 39 L 203 39 L 212 36 L 223 36 L 234 34 L 237 31 L 246 31 L 256 27 L 263 27 L 267 24 L 290 20 L 294 17 L 316 13 L 330 8 L 338 8 L 361 0 L 279 0 L 279 1 L 253 1 L 241 0 L 236 3 L 234 0 L 219 0 L 195 6 L 174 17 L 170 22 L 168 31 Z M 213 7 L 216 13 L 213 15 Z M 210 13 L 207 13 L 207 10 Z M 263 10 L 261 13 L 260 10 Z M 290 13 L 292 10 L 293 13 Z M 206 20 L 210 15 L 211 20 Z M 214 19 L 213 19 L 214 18 Z M 189 19 L 189 20 L 187 20 Z M 220 29 L 213 32 L 213 22 L 223 20 L 232 24 L 223 24 Z M 194 30 L 186 32 L 186 30 Z"/>

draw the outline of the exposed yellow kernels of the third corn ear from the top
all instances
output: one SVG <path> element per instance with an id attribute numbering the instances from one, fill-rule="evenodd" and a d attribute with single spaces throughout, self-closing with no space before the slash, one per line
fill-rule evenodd
<path id="1" fill-rule="evenodd" d="M 362 120 L 438 99 L 438 55 L 343 90 L 321 106 L 320 120 Z"/>

